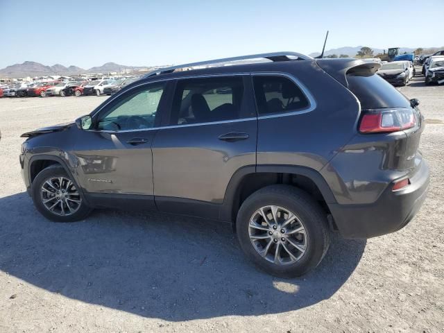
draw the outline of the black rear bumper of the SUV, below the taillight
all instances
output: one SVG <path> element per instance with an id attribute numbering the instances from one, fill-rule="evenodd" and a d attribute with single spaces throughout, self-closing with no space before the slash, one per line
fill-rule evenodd
<path id="1" fill-rule="evenodd" d="M 425 160 L 422 160 L 410 180 L 411 185 L 399 191 L 392 191 L 389 185 L 372 204 L 329 204 L 341 235 L 346 239 L 365 239 L 404 228 L 418 212 L 427 195 L 429 167 Z"/>

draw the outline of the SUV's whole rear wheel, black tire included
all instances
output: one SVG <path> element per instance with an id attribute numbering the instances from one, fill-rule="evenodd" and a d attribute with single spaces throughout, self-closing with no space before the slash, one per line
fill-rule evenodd
<path id="1" fill-rule="evenodd" d="M 282 228 L 279 226 L 277 228 L 278 230 L 273 231 L 266 226 L 268 222 L 264 223 L 264 215 L 259 213 L 261 207 L 267 206 L 278 207 L 278 209 L 280 209 L 280 211 L 276 213 L 276 215 L 280 214 L 281 216 L 281 219 L 277 219 L 279 225 L 283 225 L 282 216 L 285 219 L 288 217 L 285 214 L 282 215 L 284 210 L 293 213 L 296 216 L 296 219 L 293 220 L 294 222 L 287 224 L 285 228 L 279 230 Z M 264 208 L 264 211 L 267 212 L 267 209 L 268 208 Z M 266 213 L 267 218 L 268 216 L 273 216 L 270 214 L 271 213 Z M 259 216 L 260 220 L 255 220 L 255 216 Z M 257 221 L 262 222 L 258 225 Z M 266 231 L 262 231 L 264 229 L 259 230 L 259 237 L 262 237 L 262 235 L 269 235 L 270 232 L 276 234 L 269 236 L 269 241 L 268 238 L 255 240 L 257 243 L 254 243 L 255 245 L 253 245 L 253 240 L 250 239 L 250 237 L 252 233 L 257 232 L 257 228 L 252 227 L 252 224 L 250 223 L 260 227 L 263 227 L 264 225 L 266 226 Z M 296 225 L 296 227 L 293 228 L 300 229 L 302 226 L 302 228 L 305 228 L 304 232 L 289 234 L 292 230 L 293 232 L 296 230 L 291 229 L 293 223 Z M 270 224 L 274 225 L 274 223 Z M 289 185 L 271 185 L 259 189 L 246 198 L 244 203 L 242 203 L 237 214 L 236 231 L 242 250 L 248 259 L 250 259 L 256 266 L 266 273 L 280 278 L 294 278 L 296 276 L 304 275 L 316 268 L 325 256 L 325 253 L 327 253 L 330 245 L 330 237 L 326 225 L 327 214 L 325 214 L 321 206 L 318 205 L 318 203 L 316 203 L 316 201 L 305 191 Z M 281 233 L 282 231 L 287 232 L 287 234 Z M 284 237 L 279 239 L 281 236 Z M 257 235 L 253 234 L 253 237 L 257 237 Z M 302 253 L 298 248 L 291 246 L 298 241 L 298 239 L 295 239 L 294 237 L 300 237 L 300 239 L 303 240 L 302 243 L 305 244 L 305 252 Z M 276 240 L 277 242 L 275 242 Z M 261 246 L 259 242 L 262 241 L 264 241 L 264 244 L 266 243 L 266 245 Z M 276 262 L 276 252 L 278 252 L 278 259 L 282 259 L 282 262 L 275 263 L 270 261 L 273 260 L 273 249 L 274 261 Z M 279 250 L 276 251 L 276 249 Z M 293 251 L 293 258 L 290 257 L 286 249 Z M 259 254 L 259 250 L 262 252 L 262 255 Z M 281 250 L 283 252 L 280 253 Z M 270 254 L 271 257 L 269 257 Z M 285 262 L 286 255 L 287 262 Z M 297 259 L 296 256 L 298 256 Z M 293 262 L 290 262 L 291 260 L 293 260 Z"/>

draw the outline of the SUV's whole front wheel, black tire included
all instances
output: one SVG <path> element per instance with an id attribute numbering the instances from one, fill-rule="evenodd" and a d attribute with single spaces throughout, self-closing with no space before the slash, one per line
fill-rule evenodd
<path id="1" fill-rule="evenodd" d="M 62 179 L 61 187 L 60 184 L 58 184 L 59 179 Z M 69 185 L 68 180 L 71 181 L 72 185 Z M 69 185 L 69 187 L 64 186 L 63 184 Z M 42 187 L 44 187 L 44 189 L 42 189 Z M 62 194 L 61 189 L 65 187 L 67 190 Z M 56 191 L 57 189 L 60 189 L 60 191 Z M 49 190 L 51 190 L 51 192 Z M 77 194 L 74 194 L 75 191 Z M 37 208 L 40 214 L 46 217 L 46 219 L 54 222 L 74 222 L 83 220 L 91 212 L 91 208 L 87 206 L 80 192 L 76 189 L 74 182 L 72 182 L 70 176 L 68 176 L 65 169 L 63 169 L 60 164 L 53 164 L 40 171 L 33 181 L 31 194 L 35 208 Z M 60 198 L 64 198 L 62 202 L 58 200 L 57 196 L 59 194 Z M 67 194 L 69 194 L 69 196 Z M 49 203 L 47 203 L 48 206 L 45 206 L 44 200 L 49 201 Z M 76 203 L 76 201 L 78 201 L 78 203 Z M 53 205 L 52 203 L 55 205 L 53 208 L 54 212 L 48 208 L 49 205 Z M 73 212 L 70 212 L 71 210 Z M 57 214 L 58 212 L 60 212 L 60 214 Z M 68 212 L 69 214 L 62 214 L 62 212 Z"/>

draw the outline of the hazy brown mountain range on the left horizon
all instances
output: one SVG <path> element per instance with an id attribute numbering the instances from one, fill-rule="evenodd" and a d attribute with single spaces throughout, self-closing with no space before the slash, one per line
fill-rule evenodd
<path id="1" fill-rule="evenodd" d="M 103 66 L 92 67 L 90 69 L 82 69 L 76 66 L 65 67 L 60 64 L 53 66 L 45 66 L 39 62 L 25 61 L 22 64 L 15 64 L 0 69 L 0 76 L 8 78 L 23 78 L 26 76 L 49 76 L 49 75 L 74 75 L 83 73 L 108 73 L 111 71 L 121 71 L 123 69 L 142 69 L 146 67 L 132 67 L 119 65 L 114 62 L 107 62 Z"/>

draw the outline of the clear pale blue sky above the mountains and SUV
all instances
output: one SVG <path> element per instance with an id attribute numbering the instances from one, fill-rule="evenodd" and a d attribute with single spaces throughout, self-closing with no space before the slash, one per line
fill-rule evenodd
<path id="1" fill-rule="evenodd" d="M 444 0 L 0 0 L 0 68 L 146 66 L 341 46 L 442 46 Z M 438 16 L 436 16 L 438 15 Z"/>

